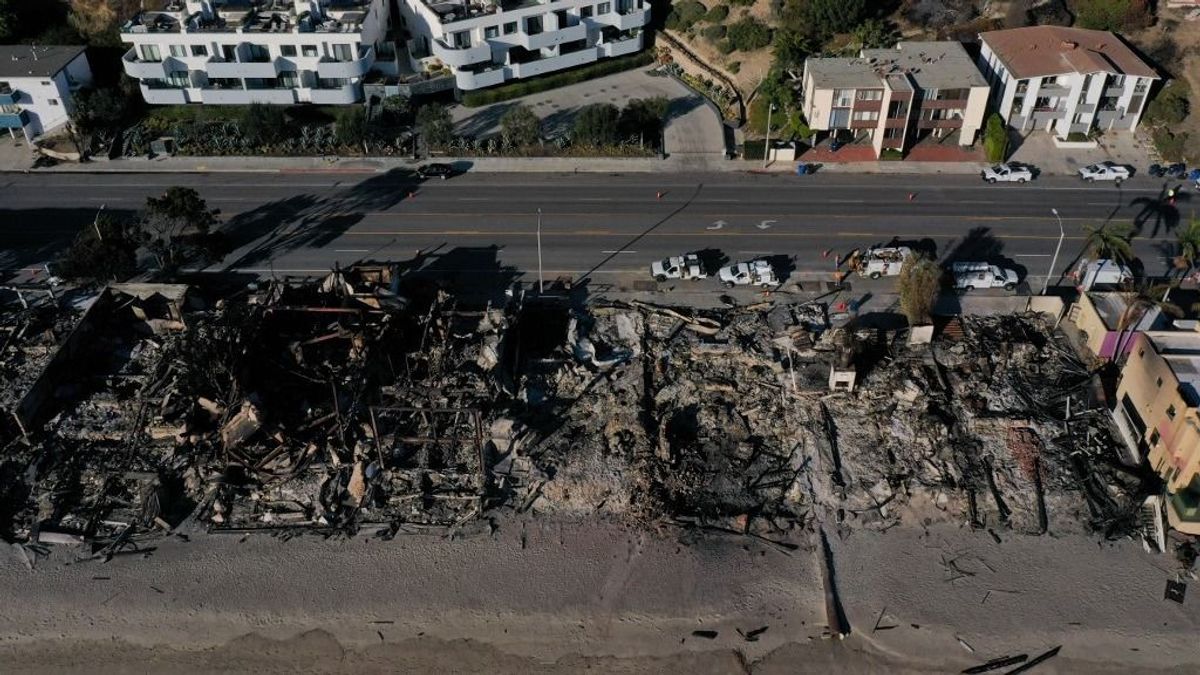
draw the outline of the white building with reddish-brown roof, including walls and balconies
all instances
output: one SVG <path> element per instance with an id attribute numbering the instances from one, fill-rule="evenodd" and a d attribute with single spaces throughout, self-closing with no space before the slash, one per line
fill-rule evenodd
<path id="1" fill-rule="evenodd" d="M 1004 121 L 1060 138 L 1093 129 L 1134 130 L 1159 79 L 1103 30 L 1031 26 L 979 35 L 979 67 Z"/>

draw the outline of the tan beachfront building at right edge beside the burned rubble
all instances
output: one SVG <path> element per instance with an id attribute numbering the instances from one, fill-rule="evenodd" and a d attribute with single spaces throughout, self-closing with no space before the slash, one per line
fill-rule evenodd
<path id="1" fill-rule="evenodd" d="M 1134 336 L 1114 418 L 1166 483 L 1171 527 L 1200 534 L 1200 324 Z"/>

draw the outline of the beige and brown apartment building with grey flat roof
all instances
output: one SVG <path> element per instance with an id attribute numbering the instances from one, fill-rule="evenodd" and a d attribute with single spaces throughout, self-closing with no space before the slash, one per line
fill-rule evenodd
<path id="1" fill-rule="evenodd" d="M 870 137 L 875 155 L 958 135 L 971 145 L 984 124 L 988 82 L 959 42 L 900 42 L 858 58 L 804 61 L 804 117 L 815 131 Z"/>

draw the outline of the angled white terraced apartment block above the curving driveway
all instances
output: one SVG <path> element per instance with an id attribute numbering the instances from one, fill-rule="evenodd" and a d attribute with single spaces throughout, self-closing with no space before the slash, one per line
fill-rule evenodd
<path id="1" fill-rule="evenodd" d="M 481 89 L 642 48 L 649 0 L 398 0 L 416 72 Z"/>

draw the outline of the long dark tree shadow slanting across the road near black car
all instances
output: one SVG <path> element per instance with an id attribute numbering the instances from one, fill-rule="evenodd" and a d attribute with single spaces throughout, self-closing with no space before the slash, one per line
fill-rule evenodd
<path id="1" fill-rule="evenodd" d="M 300 249 L 325 246 L 366 214 L 388 210 L 408 198 L 419 185 L 412 172 L 394 169 L 331 197 L 299 195 L 238 214 L 220 231 L 230 239 L 234 251 L 223 261 L 223 268 L 236 269 Z"/>

